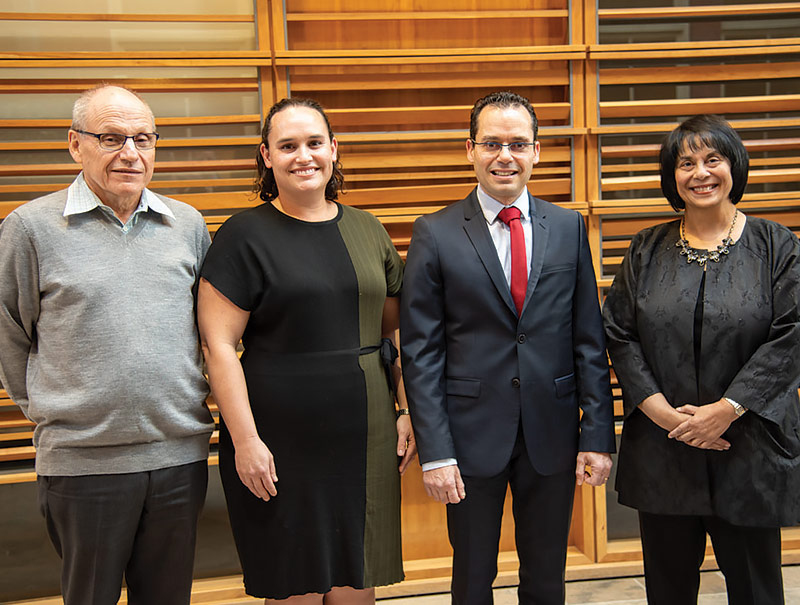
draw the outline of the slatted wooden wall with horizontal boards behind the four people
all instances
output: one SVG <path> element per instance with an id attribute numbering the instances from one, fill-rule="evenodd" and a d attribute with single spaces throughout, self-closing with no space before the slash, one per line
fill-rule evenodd
<path id="1" fill-rule="evenodd" d="M 151 187 L 200 209 L 212 233 L 256 203 L 265 109 L 302 95 L 329 110 L 342 201 L 378 216 L 404 253 L 417 216 L 473 186 L 469 108 L 498 89 L 536 106 L 542 161 L 530 189 L 586 217 L 600 295 L 630 237 L 673 216 L 657 150 L 695 113 L 724 114 L 745 139 L 752 168 L 740 207 L 800 230 L 798 2 L 209 0 L 203 13 L 195 4 L 81 0 L 64 13 L 55 0 L 4 2 L 0 219 L 74 178 L 71 103 L 109 81 L 143 93 L 157 116 Z M 0 398 L 0 489 L 33 480 L 30 436 Z M 425 497 L 418 468 L 404 490 L 409 579 L 384 594 L 440 589 L 449 573 L 444 511 Z M 571 577 L 640 569 L 638 542 L 608 524 L 615 506 L 602 489 L 578 491 Z M 800 560 L 797 530 L 784 546 L 787 561 Z M 510 524 L 501 548 L 500 582 L 513 583 Z"/>

